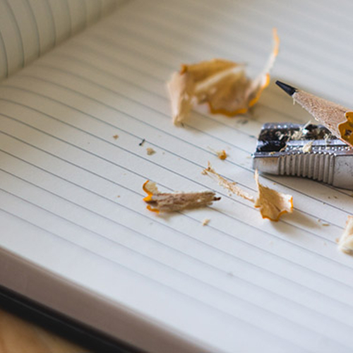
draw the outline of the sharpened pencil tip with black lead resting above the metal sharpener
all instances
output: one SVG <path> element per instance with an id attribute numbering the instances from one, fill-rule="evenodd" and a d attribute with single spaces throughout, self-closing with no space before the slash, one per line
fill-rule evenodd
<path id="1" fill-rule="evenodd" d="M 337 138 L 353 147 L 353 112 L 340 104 L 298 90 L 287 83 L 276 81 L 276 84 Z"/>

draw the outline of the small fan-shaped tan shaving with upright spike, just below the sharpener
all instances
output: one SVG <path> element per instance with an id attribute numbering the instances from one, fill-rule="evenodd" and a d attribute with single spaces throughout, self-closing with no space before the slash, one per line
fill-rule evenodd
<path id="1" fill-rule="evenodd" d="M 258 181 L 258 171 L 255 171 L 255 181 L 258 186 L 258 198 L 255 207 L 260 209 L 263 218 L 268 218 L 274 222 L 280 220 L 280 216 L 285 213 L 293 212 L 293 197 L 280 193 L 273 189 L 263 186 Z"/>

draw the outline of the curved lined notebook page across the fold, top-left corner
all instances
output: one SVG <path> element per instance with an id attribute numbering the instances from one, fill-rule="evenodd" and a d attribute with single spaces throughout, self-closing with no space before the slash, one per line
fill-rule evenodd
<path id="1" fill-rule="evenodd" d="M 118 0 L 1 0 L 0 80 L 23 68 L 79 30 Z"/>

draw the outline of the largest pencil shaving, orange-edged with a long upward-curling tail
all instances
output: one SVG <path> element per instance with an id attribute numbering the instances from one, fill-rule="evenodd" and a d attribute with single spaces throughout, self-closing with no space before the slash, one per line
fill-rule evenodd
<path id="1" fill-rule="evenodd" d="M 244 64 L 225 59 L 181 65 L 167 83 L 174 124 L 186 119 L 192 107 L 207 103 L 213 114 L 235 116 L 244 114 L 261 96 L 270 83 L 270 69 L 278 54 L 279 38 L 273 29 L 273 52 L 263 71 L 255 79 L 246 76 Z"/>

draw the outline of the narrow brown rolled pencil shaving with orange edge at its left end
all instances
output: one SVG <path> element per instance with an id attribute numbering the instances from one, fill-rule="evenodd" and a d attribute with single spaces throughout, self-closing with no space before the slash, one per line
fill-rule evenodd
<path id="1" fill-rule="evenodd" d="M 148 203 L 147 209 L 155 212 L 176 212 L 191 208 L 201 208 L 212 205 L 213 201 L 219 201 L 213 191 L 201 191 L 196 193 L 160 193 L 152 181 L 143 184 L 143 191 L 148 194 L 143 201 Z"/>

